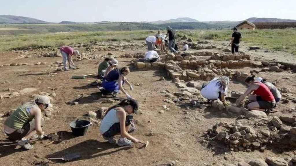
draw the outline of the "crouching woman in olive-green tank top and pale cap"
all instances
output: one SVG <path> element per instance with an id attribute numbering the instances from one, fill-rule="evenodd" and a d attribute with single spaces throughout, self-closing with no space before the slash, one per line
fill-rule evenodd
<path id="1" fill-rule="evenodd" d="M 12 140 L 20 140 L 17 144 L 25 149 L 32 149 L 29 139 L 42 139 L 44 119 L 41 111 L 51 106 L 47 96 L 38 96 L 35 102 L 28 102 L 20 106 L 4 122 L 4 132 Z M 37 134 L 35 134 L 35 130 Z"/>

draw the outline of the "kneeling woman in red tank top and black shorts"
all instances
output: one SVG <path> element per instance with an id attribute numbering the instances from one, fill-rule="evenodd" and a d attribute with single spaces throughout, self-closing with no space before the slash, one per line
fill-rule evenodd
<path id="1" fill-rule="evenodd" d="M 254 77 L 253 75 L 245 79 L 244 82 L 249 87 L 246 92 L 237 99 L 236 104 L 239 105 L 247 95 L 253 92 L 254 95 L 249 96 L 250 103 L 247 105 L 247 108 L 249 110 L 260 110 L 270 113 L 271 109 L 276 107 L 274 96 L 265 84 L 255 81 Z"/>

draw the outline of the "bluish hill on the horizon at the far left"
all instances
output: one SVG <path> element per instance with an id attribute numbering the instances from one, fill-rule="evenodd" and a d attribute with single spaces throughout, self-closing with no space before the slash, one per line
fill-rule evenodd
<path id="1" fill-rule="evenodd" d="M 50 22 L 30 17 L 0 15 L 0 24 L 48 24 Z"/>

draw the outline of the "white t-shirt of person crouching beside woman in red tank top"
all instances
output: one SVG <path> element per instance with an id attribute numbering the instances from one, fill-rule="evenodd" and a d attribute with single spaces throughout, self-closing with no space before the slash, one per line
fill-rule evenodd
<path id="1" fill-rule="evenodd" d="M 224 93 L 225 96 L 228 93 L 228 87 L 225 88 L 225 91 L 220 88 L 220 86 L 217 85 L 219 82 L 217 80 L 218 78 L 214 78 L 212 81 L 210 81 L 207 86 L 202 88 L 201 95 L 209 100 L 216 100 L 219 98 L 219 92 Z"/>

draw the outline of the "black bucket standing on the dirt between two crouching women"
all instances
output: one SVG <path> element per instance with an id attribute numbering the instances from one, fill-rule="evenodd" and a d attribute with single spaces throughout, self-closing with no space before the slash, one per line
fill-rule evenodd
<path id="1" fill-rule="evenodd" d="M 90 121 L 76 120 L 70 123 L 71 130 L 75 136 L 85 136 L 91 125 Z"/>

